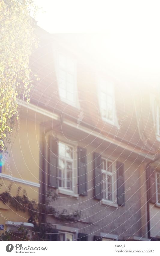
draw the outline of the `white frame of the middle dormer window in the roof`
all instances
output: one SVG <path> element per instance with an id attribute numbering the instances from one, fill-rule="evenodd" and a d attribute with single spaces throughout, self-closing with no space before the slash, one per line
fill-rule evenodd
<path id="1" fill-rule="evenodd" d="M 106 84 L 106 91 L 103 91 L 102 90 L 102 85 L 101 83 L 104 82 Z M 113 95 L 110 95 L 107 93 L 107 84 L 111 84 L 112 87 L 113 87 Z M 118 124 L 118 121 L 116 120 L 116 105 L 115 105 L 115 90 L 114 90 L 114 84 L 111 82 L 111 81 L 108 81 L 107 79 L 104 79 L 104 78 L 98 78 L 98 97 L 99 97 L 99 109 L 100 109 L 100 113 L 102 112 L 102 108 L 101 108 L 101 92 L 104 92 L 105 95 L 106 95 L 106 98 L 107 96 L 111 96 L 112 97 L 112 100 L 113 100 L 113 119 L 110 120 L 104 116 L 102 116 L 102 113 L 101 113 L 101 118 L 104 122 L 107 122 L 107 123 L 110 123 L 112 125 L 117 125 Z M 107 111 L 107 101 L 106 101 L 106 111 Z"/>

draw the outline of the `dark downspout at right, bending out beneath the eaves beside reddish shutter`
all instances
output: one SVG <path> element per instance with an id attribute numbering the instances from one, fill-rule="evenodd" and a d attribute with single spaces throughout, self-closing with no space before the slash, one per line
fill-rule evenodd
<path id="1" fill-rule="evenodd" d="M 150 214 L 149 214 L 149 178 L 147 177 L 147 169 L 150 166 L 150 164 L 156 162 L 160 159 L 160 156 L 157 159 L 151 160 L 149 163 L 146 164 L 146 185 L 147 185 L 147 234 L 148 239 L 152 239 L 150 236 Z"/>

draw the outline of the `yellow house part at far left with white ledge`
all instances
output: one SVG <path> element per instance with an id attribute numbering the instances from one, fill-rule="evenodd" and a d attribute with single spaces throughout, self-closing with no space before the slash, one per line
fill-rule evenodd
<path id="1" fill-rule="evenodd" d="M 23 207 L 23 202 L 18 200 L 18 196 L 24 199 L 28 197 L 30 201 L 38 203 L 40 183 L 37 138 L 40 134 L 34 120 L 27 119 L 26 109 L 19 105 L 18 112 L 20 118 L 11 134 L 8 154 L 2 154 L 1 157 L 0 234 L 4 231 L 14 231 L 20 236 L 20 227 L 23 226 L 24 231 L 32 237 L 34 224 L 29 222 L 28 209 L 25 205 Z M 15 200 L 12 200 L 14 205 L 10 203 L 10 197 L 15 197 Z"/>

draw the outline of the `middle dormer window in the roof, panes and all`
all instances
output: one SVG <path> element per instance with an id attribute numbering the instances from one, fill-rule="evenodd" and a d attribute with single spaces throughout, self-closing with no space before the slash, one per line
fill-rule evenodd
<path id="1" fill-rule="evenodd" d="M 99 105 L 101 117 L 104 121 L 113 123 L 115 119 L 113 84 L 101 79 L 99 82 L 99 88 Z"/>

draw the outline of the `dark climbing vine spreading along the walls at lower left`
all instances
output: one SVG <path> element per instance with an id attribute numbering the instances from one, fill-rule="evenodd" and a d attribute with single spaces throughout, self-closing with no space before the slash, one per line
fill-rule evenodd
<path id="1" fill-rule="evenodd" d="M 53 198 L 53 201 L 56 200 L 57 194 L 51 191 L 50 189 L 47 191 L 47 198 L 46 202 L 47 204 L 39 204 L 36 203 L 34 200 L 30 201 L 27 197 L 26 190 L 21 189 L 21 187 L 18 187 L 17 195 L 12 196 L 11 195 L 11 188 L 12 184 L 8 186 L 8 190 L 0 194 L 0 201 L 2 201 L 4 204 L 9 203 L 11 207 L 16 209 L 17 211 L 27 212 L 29 215 L 29 222 L 34 224 L 34 232 L 32 240 L 33 241 L 46 241 L 48 239 L 48 234 L 52 233 L 52 225 L 50 223 L 38 223 L 39 220 L 43 220 L 44 216 L 51 215 L 53 218 L 57 220 L 67 220 L 67 221 L 78 221 L 81 217 L 81 211 L 75 211 L 74 213 L 67 214 L 67 210 L 62 210 L 60 213 L 58 210 L 56 210 L 52 205 L 49 205 L 48 203 L 51 202 L 51 197 Z M 21 195 L 22 194 L 22 195 Z M 49 197 L 49 199 L 48 199 Z M 18 236 L 19 232 L 10 232 L 6 233 L 0 236 L 0 239 L 3 241 L 20 241 L 20 240 L 6 240 L 6 239 L 18 239 L 16 236 Z M 24 240 L 29 240 L 29 237 L 26 236 L 25 230 L 23 229 L 23 232 L 20 232 L 19 236 L 20 238 L 23 238 Z"/>

